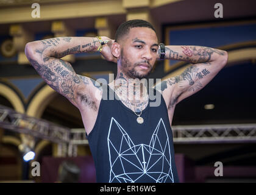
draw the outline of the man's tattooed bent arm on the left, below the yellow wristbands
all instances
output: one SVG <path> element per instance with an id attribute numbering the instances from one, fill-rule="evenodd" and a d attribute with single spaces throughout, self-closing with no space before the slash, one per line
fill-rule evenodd
<path id="1" fill-rule="evenodd" d="M 93 37 L 59 37 L 26 44 L 27 59 L 48 85 L 65 96 L 77 108 L 96 109 L 93 80 L 75 73 L 69 62 L 60 58 L 68 54 L 95 52 L 99 46 Z"/>

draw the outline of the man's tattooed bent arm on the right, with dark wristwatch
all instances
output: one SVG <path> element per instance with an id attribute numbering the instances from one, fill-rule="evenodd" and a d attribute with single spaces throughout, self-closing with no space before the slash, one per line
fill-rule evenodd
<path id="1" fill-rule="evenodd" d="M 226 51 L 204 46 L 165 46 L 165 51 L 165 59 L 193 63 L 179 76 L 161 82 L 162 93 L 170 97 L 168 108 L 204 88 L 226 65 L 228 56 Z"/>

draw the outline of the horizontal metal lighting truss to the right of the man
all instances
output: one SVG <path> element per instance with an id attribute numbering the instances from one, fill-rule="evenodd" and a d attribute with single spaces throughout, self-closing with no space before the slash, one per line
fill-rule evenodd
<path id="1" fill-rule="evenodd" d="M 173 126 L 174 143 L 256 143 L 256 124 Z"/>

